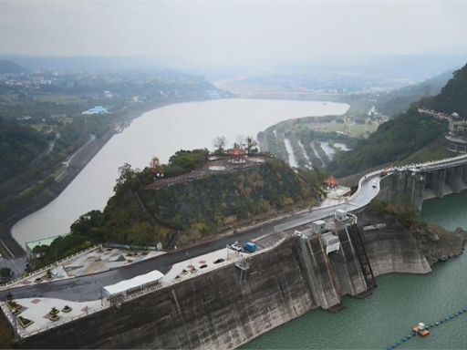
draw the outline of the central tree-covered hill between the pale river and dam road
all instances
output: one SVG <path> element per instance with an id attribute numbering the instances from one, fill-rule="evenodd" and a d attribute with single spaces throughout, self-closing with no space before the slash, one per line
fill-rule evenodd
<path id="1" fill-rule="evenodd" d="M 322 179 L 316 172 L 296 173 L 269 158 L 245 169 L 209 171 L 205 156 L 205 149 L 179 151 L 166 165 L 153 160 L 145 170 L 120 168 L 115 195 L 104 211 L 81 216 L 50 251 L 59 258 L 94 242 L 181 247 L 320 200 Z M 154 180 L 157 172 L 173 176 Z M 171 185 L 157 185 L 165 180 Z"/>

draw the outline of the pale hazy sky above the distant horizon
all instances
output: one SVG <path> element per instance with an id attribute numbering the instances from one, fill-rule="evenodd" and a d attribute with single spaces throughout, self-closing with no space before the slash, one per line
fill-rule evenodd
<path id="1" fill-rule="evenodd" d="M 467 1 L 3 1 L 0 54 L 192 67 L 467 52 Z"/>

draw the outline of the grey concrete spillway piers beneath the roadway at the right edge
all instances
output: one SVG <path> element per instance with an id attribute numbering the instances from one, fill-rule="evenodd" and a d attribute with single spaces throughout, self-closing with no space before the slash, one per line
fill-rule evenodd
<path id="1" fill-rule="evenodd" d="M 421 211 L 423 201 L 467 189 L 467 156 L 397 167 L 379 184 L 378 200 L 410 203 Z"/>

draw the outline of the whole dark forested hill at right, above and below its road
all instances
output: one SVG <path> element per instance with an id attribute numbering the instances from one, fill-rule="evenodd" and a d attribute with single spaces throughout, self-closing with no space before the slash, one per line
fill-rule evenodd
<path id="1" fill-rule="evenodd" d="M 467 117 L 466 97 L 467 66 L 454 72 L 439 95 L 422 99 L 418 104 L 447 113 L 456 111 Z M 327 170 L 337 177 L 342 177 L 381 164 L 398 162 L 417 151 L 423 153 L 423 148 L 429 145 L 438 144 L 438 149 L 444 149 L 442 135 L 447 129 L 447 123 L 421 115 L 417 108 L 412 106 L 405 113 L 381 124 L 368 139 L 359 140 L 354 149 L 338 154 L 336 159 L 329 163 Z M 428 151 L 426 149 L 425 154 L 421 156 L 423 160 L 430 159 Z"/>

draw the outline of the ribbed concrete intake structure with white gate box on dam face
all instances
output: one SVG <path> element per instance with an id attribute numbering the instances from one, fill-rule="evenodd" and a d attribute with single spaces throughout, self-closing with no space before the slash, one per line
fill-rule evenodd
<path id="1" fill-rule="evenodd" d="M 356 223 L 355 215 L 336 211 L 334 220 L 295 232 L 309 291 L 325 310 L 338 307 L 342 295 L 365 296 L 376 286 Z"/>

